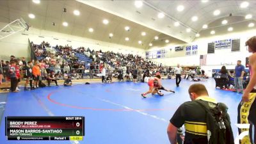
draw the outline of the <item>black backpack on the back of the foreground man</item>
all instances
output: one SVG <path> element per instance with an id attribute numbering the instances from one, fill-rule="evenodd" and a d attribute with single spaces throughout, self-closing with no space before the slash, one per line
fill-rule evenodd
<path id="1" fill-rule="evenodd" d="M 227 106 L 223 103 L 214 104 L 195 100 L 206 112 L 208 144 L 234 144 Z"/>

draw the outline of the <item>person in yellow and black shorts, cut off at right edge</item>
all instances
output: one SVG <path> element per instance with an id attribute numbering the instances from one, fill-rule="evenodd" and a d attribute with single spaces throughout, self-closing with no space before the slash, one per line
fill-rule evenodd
<path id="1" fill-rule="evenodd" d="M 250 82 L 244 90 L 242 100 L 237 108 L 237 124 L 250 124 L 249 129 L 239 129 L 239 134 L 249 131 L 241 143 L 256 143 L 256 36 L 245 43 L 248 51 L 253 54 L 249 57 Z M 253 129 L 254 127 L 254 129 Z M 254 134 L 253 134 L 254 133 Z M 254 141 L 253 141 L 254 140 Z"/>

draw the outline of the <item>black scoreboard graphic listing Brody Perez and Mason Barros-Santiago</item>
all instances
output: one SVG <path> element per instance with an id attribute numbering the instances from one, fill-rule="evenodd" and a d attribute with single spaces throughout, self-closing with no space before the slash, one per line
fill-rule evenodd
<path id="1" fill-rule="evenodd" d="M 7 116 L 7 140 L 83 140 L 84 116 Z"/>

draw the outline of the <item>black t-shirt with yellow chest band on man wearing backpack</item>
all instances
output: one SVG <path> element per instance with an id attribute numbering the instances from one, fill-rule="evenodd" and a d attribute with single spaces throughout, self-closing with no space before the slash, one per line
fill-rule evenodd
<path id="1" fill-rule="evenodd" d="M 211 103 L 214 99 L 205 98 L 204 102 Z M 185 125 L 186 134 L 184 144 L 207 144 L 206 112 L 198 103 L 184 102 L 175 111 L 170 120 L 175 127 Z"/>

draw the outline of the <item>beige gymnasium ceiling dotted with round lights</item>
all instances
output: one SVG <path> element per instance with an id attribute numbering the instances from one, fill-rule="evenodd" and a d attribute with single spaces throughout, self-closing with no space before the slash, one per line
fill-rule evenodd
<path id="1" fill-rule="evenodd" d="M 241 8 L 244 1 L 217 0 L 204 1 L 205 3 L 201 0 L 145 0 L 140 8 L 135 6 L 134 1 L 128 0 L 41 0 L 40 4 L 32 1 L 0 0 L 0 22 L 12 22 L 22 17 L 33 28 L 141 49 L 148 49 L 150 43 L 163 47 L 166 45 L 165 40 L 169 40 L 168 44 L 192 42 L 196 33 L 200 33 L 200 37 L 207 37 L 211 36 L 212 30 L 216 35 L 244 31 L 252 29 L 248 28 L 248 24 L 256 24 L 256 9 L 253 8 L 256 1 L 248 1 L 246 8 Z M 180 5 L 184 10 L 179 12 L 177 6 Z M 67 8 L 67 12 L 63 12 L 63 8 Z M 79 10 L 80 15 L 74 15 L 74 10 Z M 215 10 L 220 10 L 220 14 L 214 15 Z M 157 17 L 160 12 L 164 14 L 163 19 Z M 35 19 L 30 19 L 29 13 L 33 13 Z M 244 19 L 248 14 L 251 14 L 252 18 Z M 191 20 L 193 16 L 198 20 Z M 108 19 L 109 23 L 103 24 L 104 19 Z M 224 19 L 228 21 L 227 24 L 221 24 Z M 56 26 L 53 26 L 52 22 L 55 22 Z M 63 26 L 63 22 L 68 22 L 68 26 Z M 180 25 L 175 26 L 175 22 Z M 204 24 L 207 24 L 208 28 L 203 29 Z M 125 31 L 125 26 L 129 26 L 130 30 Z M 233 31 L 227 31 L 229 27 L 232 27 Z M 93 33 L 88 31 L 89 28 L 93 28 Z M 187 29 L 191 31 L 188 33 Z M 143 31 L 145 36 L 141 35 Z M 109 38 L 109 33 L 113 33 L 112 38 Z M 154 40 L 155 36 L 159 36 L 159 39 Z M 126 41 L 125 37 L 129 37 L 129 41 Z M 138 44 L 138 41 L 142 44 Z"/>

